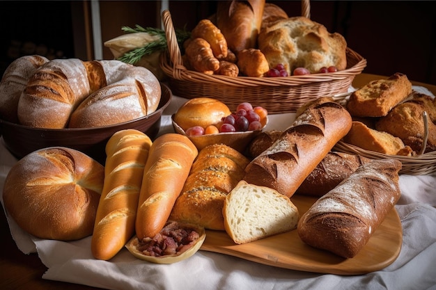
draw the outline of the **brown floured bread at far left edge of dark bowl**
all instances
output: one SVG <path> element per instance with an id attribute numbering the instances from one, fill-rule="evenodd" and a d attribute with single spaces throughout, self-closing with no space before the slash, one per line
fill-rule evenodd
<path id="1" fill-rule="evenodd" d="M 49 60 L 44 56 L 22 56 L 10 63 L 0 82 L 0 118 L 18 123 L 17 108 L 23 90 L 38 67 Z"/>

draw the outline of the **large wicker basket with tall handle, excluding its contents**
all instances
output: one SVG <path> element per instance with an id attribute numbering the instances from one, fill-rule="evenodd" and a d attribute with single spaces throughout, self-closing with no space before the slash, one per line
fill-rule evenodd
<path id="1" fill-rule="evenodd" d="M 302 15 L 310 17 L 309 0 L 302 1 Z M 286 77 L 248 77 L 209 75 L 187 70 L 168 10 L 162 13 L 168 54 L 162 54 L 161 67 L 169 77 L 174 95 L 192 99 L 212 97 L 225 102 L 233 111 L 241 102 L 263 106 L 268 113 L 293 113 L 313 99 L 347 92 L 352 80 L 366 67 L 366 59 L 347 48 L 347 68 L 327 74 Z"/>

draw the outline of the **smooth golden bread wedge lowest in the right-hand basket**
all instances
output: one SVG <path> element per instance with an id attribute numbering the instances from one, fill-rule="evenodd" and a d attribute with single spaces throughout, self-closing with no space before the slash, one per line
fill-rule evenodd
<path id="1" fill-rule="evenodd" d="M 366 124 L 353 121 L 348 134 L 343 138 L 345 143 L 389 155 L 411 156 L 412 148 L 404 145 L 403 140 L 384 131 L 366 127 Z"/>

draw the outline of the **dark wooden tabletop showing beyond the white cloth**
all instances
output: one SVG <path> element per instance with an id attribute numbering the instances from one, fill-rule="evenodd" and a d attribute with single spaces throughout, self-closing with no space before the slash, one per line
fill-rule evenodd
<path id="1" fill-rule="evenodd" d="M 373 79 L 384 79 L 386 76 L 375 74 L 360 74 L 356 76 L 353 86 L 359 88 Z M 436 86 L 424 83 L 412 82 L 416 86 L 425 86 L 436 95 Z M 0 289 L 32 289 L 32 290 L 51 290 L 51 289 L 75 289 L 91 290 L 99 289 L 87 287 L 79 284 L 58 282 L 42 279 L 42 275 L 47 271 L 47 267 L 42 264 L 37 254 L 24 255 L 13 241 L 10 235 L 9 225 L 3 211 L 0 214 L 1 255 L 0 255 Z"/>

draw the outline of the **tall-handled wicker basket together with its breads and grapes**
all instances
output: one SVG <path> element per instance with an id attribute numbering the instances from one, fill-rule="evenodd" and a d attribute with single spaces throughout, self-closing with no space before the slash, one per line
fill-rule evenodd
<path id="1" fill-rule="evenodd" d="M 233 110 L 241 102 L 269 113 L 292 113 L 318 97 L 347 92 L 366 59 L 339 33 L 302 16 L 290 17 L 264 0 L 218 1 L 217 13 L 201 19 L 178 42 L 171 14 L 162 13 L 168 54 L 161 68 L 175 95 L 212 97 Z"/>

